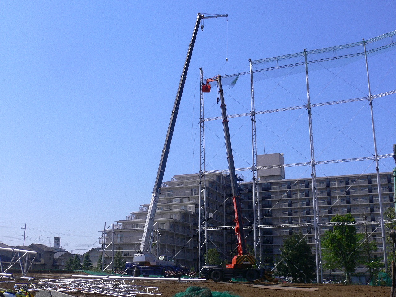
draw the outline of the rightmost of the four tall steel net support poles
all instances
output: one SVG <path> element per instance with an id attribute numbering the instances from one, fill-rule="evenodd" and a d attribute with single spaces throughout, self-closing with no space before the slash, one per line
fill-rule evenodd
<path id="1" fill-rule="evenodd" d="M 364 57 L 366 58 L 366 72 L 367 72 L 367 84 L 369 88 L 369 101 L 370 101 L 370 111 L 371 111 L 371 125 L 373 126 L 373 142 L 374 142 L 374 158 L 375 158 L 375 172 L 377 174 L 377 187 L 378 187 L 378 200 L 379 200 L 379 215 L 381 221 L 381 237 L 384 253 L 384 268 L 388 271 L 387 259 L 386 259 L 386 240 L 385 240 L 385 225 L 384 225 L 384 212 L 382 206 L 382 195 L 381 195 L 381 180 L 379 177 L 379 162 L 377 154 L 377 141 L 375 138 L 375 126 L 374 126 L 374 112 L 373 112 L 373 99 L 371 97 L 371 86 L 370 86 L 370 76 L 369 76 L 369 65 L 367 62 L 367 51 L 366 51 L 366 41 L 363 38 L 364 46 Z"/>

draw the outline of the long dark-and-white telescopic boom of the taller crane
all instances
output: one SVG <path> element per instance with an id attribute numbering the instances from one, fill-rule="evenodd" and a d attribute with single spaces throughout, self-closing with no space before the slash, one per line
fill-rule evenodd
<path id="1" fill-rule="evenodd" d="M 183 72 L 181 74 L 179 88 L 177 89 L 176 99 L 175 99 L 175 103 L 173 105 L 171 119 L 169 121 L 168 132 L 166 133 L 166 138 L 165 138 L 164 148 L 162 150 L 160 165 L 158 167 L 157 177 L 156 177 L 156 180 L 154 183 L 154 189 L 153 189 L 152 196 L 151 196 L 150 206 L 148 208 L 147 219 L 146 219 L 145 227 L 143 229 L 143 236 L 142 236 L 140 249 L 137 252 L 137 254 L 135 254 L 133 257 L 134 262 L 149 263 L 149 262 L 154 262 L 156 260 L 154 255 L 152 255 L 152 253 L 151 253 L 151 244 L 150 244 L 151 238 L 152 238 L 152 232 L 153 232 L 153 228 L 154 228 L 154 217 L 155 217 L 155 213 L 157 210 L 158 197 L 160 195 L 162 180 L 164 178 L 165 167 L 166 167 L 166 162 L 168 160 L 169 148 L 170 148 L 171 141 L 172 141 L 173 131 L 175 129 L 176 118 L 177 118 L 177 114 L 179 112 L 181 96 L 183 94 L 183 88 L 184 88 L 184 84 L 185 84 L 186 78 L 187 78 L 188 66 L 190 65 L 192 50 L 194 49 L 194 43 L 195 43 L 195 39 L 196 39 L 196 36 L 198 33 L 198 29 L 200 27 L 199 25 L 200 25 L 201 20 L 218 18 L 218 17 L 228 17 L 228 15 L 222 14 L 222 15 L 205 16 L 201 13 L 198 13 L 194 31 L 192 33 L 191 42 L 188 47 L 187 57 L 186 57 L 186 61 L 184 63 Z M 201 29 L 203 30 L 203 26 L 201 26 Z"/>

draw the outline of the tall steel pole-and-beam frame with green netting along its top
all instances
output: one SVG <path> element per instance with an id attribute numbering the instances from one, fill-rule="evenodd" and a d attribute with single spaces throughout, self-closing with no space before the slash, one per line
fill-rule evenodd
<path id="1" fill-rule="evenodd" d="M 322 281 L 322 261 L 321 261 L 321 247 L 320 247 L 320 227 L 322 225 L 331 225 L 334 226 L 334 223 L 320 223 L 319 211 L 318 211 L 318 202 L 317 202 L 317 193 L 316 193 L 316 165 L 318 164 L 333 164 L 333 163 L 342 163 L 342 162 L 352 162 L 352 161 L 362 161 L 362 160 L 373 160 L 375 161 L 375 171 L 377 175 L 377 187 L 378 187 L 378 196 L 379 196 L 379 206 L 380 206 L 380 216 L 381 219 L 379 221 L 370 221 L 372 224 L 378 224 L 381 226 L 381 234 L 382 234 L 382 243 L 383 243 L 383 255 L 384 255 L 384 267 L 387 270 L 386 263 L 386 242 L 385 242 L 385 228 L 384 228 L 384 218 L 383 218 L 383 209 L 382 209 L 382 197 L 381 197 L 381 182 L 380 182 L 380 169 L 379 169 L 379 159 L 381 158 L 389 158 L 393 156 L 393 154 L 383 154 L 379 155 L 377 152 L 377 140 L 376 140 L 376 131 L 374 126 L 374 112 L 373 112 L 373 99 L 378 99 L 384 96 L 392 95 L 396 93 L 396 89 L 391 89 L 383 93 L 372 94 L 371 86 L 370 86 L 370 76 L 369 76 L 369 64 L 368 58 L 374 57 L 379 54 L 383 54 L 386 51 L 394 50 L 396 31 L 392 31 L 381 36 L 371 38 L 369 40 L 362 40 L 360 42 L 355 42 L 352 44 L 345 44 L 341 46 L 333 46 L 329 48 L 316 49 L 312 51 L 304 51 L 289 55 L 282 55 L 278 57 L 271 57 L 267 59 L 260 59 L 252 61 L 249 59 L 250 63 L 250 71 L 241 72 L 231 75 L 222 76 L 222 84 L 223 86 L 229 86 L 232 88 L 238 78 L 240 76 L 244 76 L 249 74 L 251 78 L 251 110 L 250 112 L 234 114 L 228 116 L 228 118 L 236 118 L 236 117 L 244 117 L 250 116 L 251 118 L 251 143 L 252 143 L 252 163 L 250 167 L 246 168 L 236 168 L 236 171 L 251 171 L 253 174 L 253 225 L 246 226 L 245 228 L 253 229 L 253 237 L 254 237 L 254 254 L 257 255 L 257 249 L 259 250 L 260 255 L 260 264 L 261 264 L 261 256 L 262 246 L 261 246 L 261 232 L 260 229 L 263 228 L 278 228 L 278 227 L 313 227 L 315 234 L 315 251 L 316 251 L 316 273 L 317 273 L 317 281 L 318 283 Z M 309 86 L 309 73 L 315 70 L 324 70 L 331 69 L 336 67 L 345 67 L 348 64 L 351 64 L 355 61 L 362 60 L 365 61 L 365 75 L 367 76 L 367 84 L 368 84 L 368 95 L 365 97 L 358 98 L 345 98 L 342 100 L 336 101 L 328 101 L 323 103 L 311 104 L 310 102 L 310 86 Z M 201 85 L 204 84 L 203 73 L 201 71 Z M 291 106 L 286 108 L 278 108 L 278 109 L 270 109 L 263 111 L 255 110 L 255 90 L 254 90 L 254 82 L 258 82 L 261 80 L 272 80 L 273 78 L 280 78 L 290 74 L 297 73 L 305 73 L 305 84 L 307 89 L 307 103 L 305 105 L 299 106 Z M 339 159 L 339 160 L 324 160 L 318 161 L 315 159 L 314 154 L 314 138 L 313 138 L 313 124 L 312 124 L 312 108 L 320 107 L 320 106 L 328 106 L 335 105 L 341 103 L 351 103 L 357 101 L 368 101 L 370 106 L 370 116 L 372 123 L 372 134 L 373 134 L 373 156 L 367 157 L 355 157 L 348 159 Z M 201 90 L 201 118 L 200 118 L 200 129 L 201 129 L 201 148 L 202 152 L 200 154 L 200 164 L 205 164 L 205 135 L 204 135 L 204 123 L 206 121 L 220 120 L 220 116 L 204 118 L 204 97 Z M 310 160 L 309 162 L 300 162 L 294 164 L 284 164 L 284 165 L 276 165 L 276 166 L 262 166 L 257 167 L 257 131 L 256 131 L 256 119 L 255 117 L 260 114 L 268 114 L 273 112 L 284 112 L 287 110 L 297 110 L 297 109 L 306 109 L 308 114 L 308 130 L 309 130 L 309 145 L 310 145 Z M 313 199 L 313 211 L 314 211 L 314 224 L 282 224 L 282 225 L 261 225 L 261 208 L 260 208 L 260 198 L 259 191 L 257 188 L 257 170 L 258 169 L 266 169 L 266 168 L 277 168 L 277 167 L 294 167 L 294 166 L 310 166 L 311 167 L 311 179 L 312 179 L 312 199 Z M 227 169 L 223 170 L 212 170 L 205 171 L 205 167 L 201 166 L 200 176 L 204 178 L 205 174 L 209 173 L 225 173 Z M 205 208 L 205 205 L 201 206 Z M 205 219 L 200 217 L 200 219 Z M 206 221 L 206 220 L 205 220 Z M 365 222 L 364 224 L 366 224 Z M 388 222 L 386 222 L 388 223 Z M 200 226 L 203 225 L 204 222 L 200 222 Z M 363 224 L 363 222 L 355 222 L 355 224 Z M 213 228 L 222 228 L 222 229 L 230 229 L 233 227 L 203 227 L 204 230 L 209 230 Z M 205 238 L 203 239 L 205 241 Z M 200 246 L 201 248 L 201 246 Z"/>

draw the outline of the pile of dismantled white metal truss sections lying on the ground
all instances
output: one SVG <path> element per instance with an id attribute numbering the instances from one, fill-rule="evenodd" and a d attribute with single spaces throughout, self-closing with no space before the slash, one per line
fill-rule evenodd
<path id="1" fill-rule="evenodd" d="M 18 286 L 26 286 L 20 284 Z M 55 290 L 62 292 L 98 293 L 109 296 L 134 297 L 137 294 L 162 295 L 158 287 L 137 286 L 132 280 L 100 278 L 95 280 L 41 279 L 29 285 L 29 291 Z"/>

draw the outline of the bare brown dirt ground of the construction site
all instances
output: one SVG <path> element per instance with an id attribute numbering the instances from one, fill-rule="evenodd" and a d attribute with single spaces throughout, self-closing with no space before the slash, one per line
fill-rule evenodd
<path id="1" fill-rule="evenodd" d="M 78 272 L 76 272 L 78 274 Z M 34 274 L 29 275 L 35 278 L 70 278 L 71 274 Z M 16 283 L 27 283 L 26 281 L 17 280 Z M 241 297 L 386 297 L 390 296 L 390 287 L 381 286 L 359 286 L 359 285 L 343 285 L 343 284 L 282 284 L 272 285 L 263 283 L 261 287 L 251 287 L 252 284 L 246 282 L 163 282 L 163 281 L 145 281 L 136 280 L 136 285 L 158 287 L 162 296 L 173 297 L 178 292 L 184 292 L 190 286 L 208 287 L 211 291 L 230 291 Z M 0 287 L 12 289 L 15 282 L 1 283 Z M 268 288 L 271 287 L 271 288 Z M 282 289 L 274 289 L 279 287 Z M 314 291 L 301 291 L 298 288 L 318 288 Z M 291 288 L 291 289 L 287 289 Z M 93 293 L 69 293 L 76 297 L 104 297 L 105 295 Z M 143 296 L 143 295 L 140 295 Z"/>

